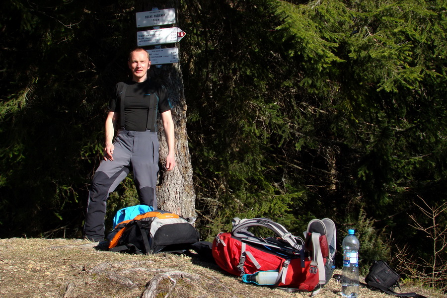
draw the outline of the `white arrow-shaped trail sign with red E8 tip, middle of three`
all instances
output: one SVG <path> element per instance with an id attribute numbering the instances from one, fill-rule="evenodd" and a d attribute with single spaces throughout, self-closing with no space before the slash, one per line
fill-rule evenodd
<path id="1" fill-rule="evenodd" d="M 139 47 L 179 42 L 186 35 L 178 27 L 162 28 L 137 32 Z"/>

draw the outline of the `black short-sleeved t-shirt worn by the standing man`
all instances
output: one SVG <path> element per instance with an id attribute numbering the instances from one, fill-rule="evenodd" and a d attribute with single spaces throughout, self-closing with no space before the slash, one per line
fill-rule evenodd
<path id="1" fill-rule="evenodd" d="M 124 97 L 124 129 L 139 132 L 146 129 L 156 131 L 157 111 L 163 113 L 171 109 L 166 89 L 150 79 L 141 83 L 135 81 L 117 83 L 108 108 L 110 112 L 120 113 L 120 117 L 121 93 L 125 84 L 127 87 Z"/>

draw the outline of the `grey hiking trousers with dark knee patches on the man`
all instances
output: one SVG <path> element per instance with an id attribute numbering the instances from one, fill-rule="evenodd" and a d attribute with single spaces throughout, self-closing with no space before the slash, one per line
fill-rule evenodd
<path id="1" fill-rule="evenodd" d="M 141 204 L 157 209 L 155 186 L 158 172 L 158 137 L 156 132 L 119 130 L 114 142 L 113 160 L 101 161 L 90 186 L 84 234 L 90 240 L 104 239 L 104 218 L 109 194 L 134 172 Z"/>

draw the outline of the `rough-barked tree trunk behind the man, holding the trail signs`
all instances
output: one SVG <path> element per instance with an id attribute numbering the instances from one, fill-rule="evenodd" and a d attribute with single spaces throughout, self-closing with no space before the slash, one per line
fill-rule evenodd
<path id="1" fill-rule="evenodd" d="M 175 8 L 175 0 L 140 0 L 141 5 L 136 7 L 136 12 L 150 11 L 153 7 L 158 9 Z M 138 4 L 138 3 L 137 3 Z M 163 27 L 171 27 L 166 25 Z M 139 28 L 137 31 L 150 30 L 151 28 Z M 169 45 L 173 47 L 174 45 Z M 179 44 L 176 44 L 179 48 Z M 153 47 L 147 47 L 151 49 Z M 179 49 L 180 51 L 180 49 Z M 157 184 L 158 208 L 173 212 L 182 217 L 195 217 L 195 192 L 192 180 L 191 159 L 188 148 L 188 136 L 186 134 L 186 99 L 183 90 L 183 78 L 178 64 L 164 64 L 161 67 L 151 66 L 149 75 L 166 87 L 169 100 L 172 104 L 172 118 L 175 126 L 176 139 L 176 166 L 172 171 L 166 171 L 163 167 L 168 152 L 163 126 L 158 120 L 158 138 L 160 140 L 160 171 Z"/>

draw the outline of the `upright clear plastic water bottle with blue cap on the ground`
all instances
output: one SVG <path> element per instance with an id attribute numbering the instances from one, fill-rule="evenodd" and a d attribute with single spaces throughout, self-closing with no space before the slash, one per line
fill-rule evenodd
<path id="1" fill-rule="evenodd" d="M 359 297 L 359 248 L 359 239 L 349 229 L 343 239 L 342 296 L 347 298 Z"/>

